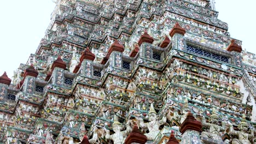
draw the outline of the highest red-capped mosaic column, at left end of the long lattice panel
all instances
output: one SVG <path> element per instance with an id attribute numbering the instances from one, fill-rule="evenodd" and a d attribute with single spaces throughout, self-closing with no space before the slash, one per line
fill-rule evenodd
<path id="1" fill-rule="evenodd" d="M 172 37 L 172 49 L 186 49 L 186 41 L 184 38 L 185 33 L 185 28 L 182 28 L 181 26 L 179 26 L 179 23 L 176 23 L 169 33 Z"/>

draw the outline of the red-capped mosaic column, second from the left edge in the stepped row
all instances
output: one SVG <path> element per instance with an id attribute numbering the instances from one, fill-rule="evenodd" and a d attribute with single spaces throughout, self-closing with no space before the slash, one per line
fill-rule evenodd
<path id="1" fill-rule="evenodd" d="M 34 69 L 33 64 L 25 70 L 23 92 L 32 94 L 35 87 L 35 79 L 37 79 L 38 71 Z"/>

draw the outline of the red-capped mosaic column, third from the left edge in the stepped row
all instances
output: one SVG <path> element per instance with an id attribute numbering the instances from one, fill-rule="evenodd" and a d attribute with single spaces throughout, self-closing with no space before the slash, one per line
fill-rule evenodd
<path id="1" fill-rule="evenodd" d="M 54 85 L 62 85 L 64 79 L 64 69 L 66 69 L 66 63 L 62 61 L 61 57 L 59 56 L 51 66 L 51 71 L 53 71 L 52 75 L 52 83 Z"/>

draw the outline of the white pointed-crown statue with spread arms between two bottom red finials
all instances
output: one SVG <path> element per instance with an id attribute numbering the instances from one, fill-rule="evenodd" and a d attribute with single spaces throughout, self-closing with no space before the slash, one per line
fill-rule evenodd
<path id="1" fill-rule="evenodd" d="M 162 119 L 158 121 L 154 106 L 153 106 L 153 104 L 151 104 L 149 113 L 148 113 L 148 117 L 149 117 L 148 123 L 144 123 L 142 118 L 136 117 L 136 119 L 139 120 L 139 127 L 149 130 L 149 133 L 144 134 L 147 136 L 148 140 L 154 140 L 155 137 L 160 132 L 160 130 L 159 130 L 160 125 L 166 123 L 166 116 L 164 115 L 162 117 Z"/>

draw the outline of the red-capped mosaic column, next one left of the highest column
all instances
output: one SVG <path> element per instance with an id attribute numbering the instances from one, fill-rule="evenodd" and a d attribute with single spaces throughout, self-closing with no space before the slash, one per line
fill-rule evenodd
<path id="1" fill-rule="evenodd" d="M 139 56 L 143 58 L 152 57 L 152 48 L 148 44 L 152 44 L 154 38 L 151 37 L 148 32 L 145 30 L 144 34 L 141 35 L 141 38 L 138 40 L 139 47 Z M 146 44 L 145 44 L 146 43 Z M 148 43 L 148 44 L 147 44 Z"/>

